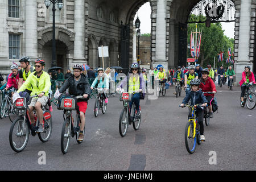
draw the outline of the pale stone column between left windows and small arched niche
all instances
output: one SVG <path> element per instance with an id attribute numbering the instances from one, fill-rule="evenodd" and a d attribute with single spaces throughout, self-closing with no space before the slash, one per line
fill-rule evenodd
<path id="1" fill-rule="evenodd" d="M 38 21 L 37 3 L 34 0 L 26 0 L 25 11 L 25 52 L 32 60 L 38 58 Z M 21 56 L 21 55 L 20 55 Z"/>

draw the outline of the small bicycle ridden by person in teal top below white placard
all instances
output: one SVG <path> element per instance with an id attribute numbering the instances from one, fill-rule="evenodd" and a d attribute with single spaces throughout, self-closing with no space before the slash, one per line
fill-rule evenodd
<path id="1" fill-rule="evenodd" d="M 105 102 L 105 98 L 103 97 L 104 89 L 102 88 L 93 88 L 94 90 L 97 90 L 97 97 L 94 104 L 94 115 L 95 117 L 98 116 L 98 111 L 101 109 L 102 114 L 106 113 L 106 107 L 107 104 Z"/>

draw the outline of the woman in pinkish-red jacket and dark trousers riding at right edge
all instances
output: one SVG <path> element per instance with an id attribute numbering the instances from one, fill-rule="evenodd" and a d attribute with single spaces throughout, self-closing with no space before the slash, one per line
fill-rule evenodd
<path id="1" fill-rule="evenodd" d="M 253 72 L 250 71 L 251 67 L 249 65 L 245 66 L 245 71 L 242 72 L 242 80 L 239 82 L 240 86 L 241 86 L 241 104 L 244 103 L 243 101 L 243 96 L 245 95 L 245 89 L 246 89 L 246 85 L 249 84 L 250 82 L 253 81 L 253 83 L 255 84 L 255 78 L 254 78 L 254 74 Z"/>

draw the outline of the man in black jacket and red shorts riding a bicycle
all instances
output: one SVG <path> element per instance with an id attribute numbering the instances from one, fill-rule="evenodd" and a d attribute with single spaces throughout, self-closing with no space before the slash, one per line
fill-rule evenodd
<path id="1" fill-rule="evenodd" d="M 79 137 L 77 140 L 84 140 L 84 126 L 85 126 L 85 112 L 87 109 L 88 100 L 90 97 L 90 84 L 88 78 L 82 73 L 82 65 L 73 65 L 73 75 L 68 78 L 67 81 L 61 86 L 59 92 L 64 93 L 69 88 L 69 94 L 73 96 L 83 96 L 77 100 L 79 106 L 81 126 L 79 131 Z"/>

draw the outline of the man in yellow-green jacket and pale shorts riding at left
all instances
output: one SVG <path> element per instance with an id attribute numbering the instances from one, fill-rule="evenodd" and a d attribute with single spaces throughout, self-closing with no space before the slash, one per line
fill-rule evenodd
<path id="1" fill-rule="evenodd" d="M 36 110 L 36 115 L 39 118 L 39 128 L 36 133 L 42 133 L 44 131 L 44 124 L 43 124 L 43 110 L 41 106 L 45 106 L 48 101 L 48 92 L 49 88 L 51 87 L 51 80 L 47 72 L 44 72 L 45 62 L 42 59 L 37 59 L 35 61 L 35 68 L 36 71 L 32 72 L 30 76 L 27 77 L 27 80 L 20 86 L 19 92 L 23 92 L 28 88 L 28 86 L 32 86 L 31 96 L 38 94 L 38 97 L 32 98 L 31 104 L 28 105 L 29 107 L 29 115 L 31 123 L 35 123 L 34 113 L 32 112 L 33 109 Z"/>

